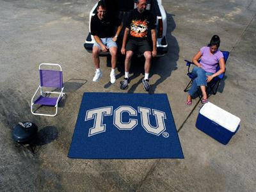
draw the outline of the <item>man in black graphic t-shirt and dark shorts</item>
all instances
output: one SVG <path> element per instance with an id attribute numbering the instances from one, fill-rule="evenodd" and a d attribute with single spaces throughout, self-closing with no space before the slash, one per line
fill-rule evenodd
<path id="1" fill-rule="evenodd" d="M 123 44 L 121 52 L 125 54 L 125 78 L 121 82 L 120 88 L 125 90 L 128 88 L 128 84 L 130 83 L 129 78 L 129 69 L 131 66 L 131 58 L 132 54 L 135 51 L 144 54 L 145 56 L 145 77 L 142 79 L 143 88 L 146 92 L 149 91 L 150 84 L 148 80 L 149 71 L 150 71 L 150 63 L 151 57 L 155 57 L 156 52 L 156 30 L 155 30 L 155 22 L 154 18 L 146 10 L 147 1 L 146 0 L 138 0 L 137 8 L 132 10 L 128 17 L 126 28 L 124 32 Z M 152 42 L 153 42 L 153 50 L 151 51 L 150 45 L 147 40 L 148 31 L 151 32 Z M 127 44 L 126 44 L 127 42 Z M 125 47 L 126 45 L 126 47 Z"/>

